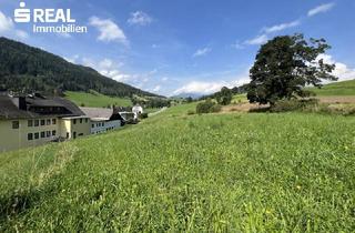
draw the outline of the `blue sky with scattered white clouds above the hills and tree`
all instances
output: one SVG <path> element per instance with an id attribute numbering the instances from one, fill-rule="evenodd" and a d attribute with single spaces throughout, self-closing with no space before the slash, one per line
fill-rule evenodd
<path id="1" fill-rule="evenodd" d="M 88 33 L 33 33 L 16 23 L 20 1 L 1 0 L 0 36 L 90 65 L 164 94 L 210 93 L 247 82 L 262 43 L 302 32 L 333 47 L 342 80 L 355 78 L 354 0 L 27 0 L 27 8 L 71 9 Z"/>

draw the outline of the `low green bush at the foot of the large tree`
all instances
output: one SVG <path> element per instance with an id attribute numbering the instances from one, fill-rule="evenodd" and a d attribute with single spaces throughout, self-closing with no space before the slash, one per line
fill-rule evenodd
<path id="1" fill-rule="evenodd" d="M 271 107 L 272 112 L 310 111 L 318 105 L 318 100 L 280 100 Z"/>

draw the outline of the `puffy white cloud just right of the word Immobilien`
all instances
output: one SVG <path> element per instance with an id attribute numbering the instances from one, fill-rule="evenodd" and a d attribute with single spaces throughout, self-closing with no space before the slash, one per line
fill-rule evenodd
<path id="1" fill-rule="evenodd" d="M 128 39 L 123 30 L 110 19 L 100 19 L 98 17 L 91 17 L 89 24 L 97 28 L 100 31 L 99 40 L 101 41 L 115 41 L 123 44 L 128 44 Z"/>

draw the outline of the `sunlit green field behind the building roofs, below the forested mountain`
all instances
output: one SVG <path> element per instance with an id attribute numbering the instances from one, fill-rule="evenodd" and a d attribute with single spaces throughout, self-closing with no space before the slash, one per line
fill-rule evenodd
<path id="1" fill-rule="evenodd" d="M 132 105 L 130 99 L 124 98 L 111 98 L 98 92 L 92 91 L 91 93 L 85 92 L 72 92 L 67 91 L 65 98 L 73 101 L 77 105 L 84 104 L 85 107 L 98 107 L 106 108 L 108 105 L 119 105 L 119 107 L 129 107 Z"/>

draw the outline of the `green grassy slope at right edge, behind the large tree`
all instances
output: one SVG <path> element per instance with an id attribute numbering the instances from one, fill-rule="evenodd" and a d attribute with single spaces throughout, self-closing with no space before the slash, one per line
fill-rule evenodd
<path id="1" fill-rule="evenodd" d="M 322 97 L 335 97 L 335 95 L 355 95 L 355 80 L 334 82 L 324 85 L 322 89 L 310 88 L 317 95 Z"/>

